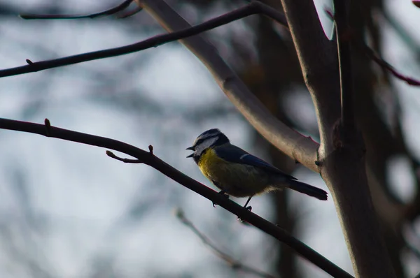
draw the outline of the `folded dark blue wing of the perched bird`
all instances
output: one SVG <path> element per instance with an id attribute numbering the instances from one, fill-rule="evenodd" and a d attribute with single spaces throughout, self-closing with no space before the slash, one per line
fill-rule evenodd
<path id="1" fill-rule="evenodd" d="M 219 157 L 221 157 L 222 159 L 225 159 L 226 161 L 229 161 L 232 163 L 248 164 L 251 166 L 269 170 L 272 173 L 285 175 L 286 177 L 292 180 L 297 180 L 295 177 L 281 172 L 281 170 L 275 168 L 271 164 L 263 161 L 262 159 L 258 159 L 257 156 L 248 154 L 248 152 L 245 152 L 244 149 L 241 149 L 240 147 L 237 147 L 235 145 L 222 145 L 222 146 L 214 148 L 214 151 Z"/>

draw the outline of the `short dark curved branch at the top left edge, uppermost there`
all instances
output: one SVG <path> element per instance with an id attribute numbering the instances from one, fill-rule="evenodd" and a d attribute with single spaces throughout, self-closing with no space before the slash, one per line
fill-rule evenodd
<path id="1" fill-rule="evenodd" d="M 134 0 L 125 0 L 123 3 L 120 3 L 120 5 L 110 8 L 109 10 L 104 10 L 99 13 L 92 13 L 90 15 L 35 15 L 31 13 L 24 13 L 20 14 L 19 16 L 22 17 L 24 20 L 80 20 L 82 18 L 93 19 L 118 13 L 121 10 L 124 10 L 125 8 L 130 6 L 130 3 L 132 3 L 132 1 Z"/>

